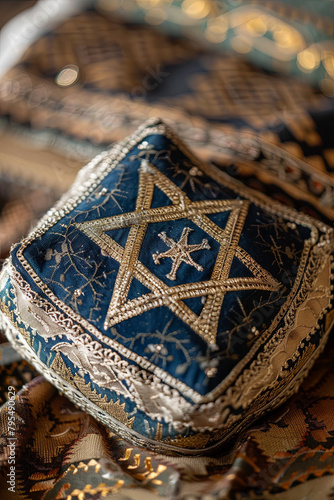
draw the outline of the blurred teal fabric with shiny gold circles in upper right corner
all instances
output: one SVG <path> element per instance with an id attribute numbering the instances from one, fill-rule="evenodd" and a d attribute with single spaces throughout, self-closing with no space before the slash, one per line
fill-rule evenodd
<path id="1" fill-rule="evenodd" d="M 328 0 L 97 0 L 97 6 L 302 76 L 333 95 L 334 8 Z"/>

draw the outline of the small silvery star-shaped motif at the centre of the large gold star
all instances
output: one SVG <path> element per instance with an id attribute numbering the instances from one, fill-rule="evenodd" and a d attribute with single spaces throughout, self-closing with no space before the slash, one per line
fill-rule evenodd
<path id="1" fill-rule="evenodd" d="M 195 262 L 190 254 L 192 252 L 197 252 L 198 250 L 210 250 L 210 245 L 207 239 L 203 239 L 202 243 L 197 245 L 189 245 L 188 244 L 188 235 L 193 231 L 190 227 L 185 227 L 182 231 L 181 238 L 179 241 L 174 241 L 172 238 L 169 238 L 165 231 L 158 234 L 159 238 L 162 239 L 167 246 L 170 247 L 170 250 L 166 252 L 156 252 L 152 255 L 154 264 L 160 264 L 161 259 L 170 258 L 173 261 L 172 269 L 169 274 L 166 274 L 166 278 L 169 280 L 176 280 L 176 273 L 182 262 L 193 266 L 197 271 L 203 271 L 203 267 Z"/>

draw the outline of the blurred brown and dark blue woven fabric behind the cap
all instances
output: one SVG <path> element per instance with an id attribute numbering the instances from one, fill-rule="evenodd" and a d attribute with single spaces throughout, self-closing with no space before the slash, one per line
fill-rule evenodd
<path id="1" fill-rule="evenodd" d="M 43 144 L 49 154 L 63 155 L 44 161 L 53 177 L 62 177 L 78 160 L 160 116 L 202 158 L 231 175 L 256 177 L 253 185 L 270 185 L 283 201 L 292 194 L 298 201 L 287 202 L 310 213 L 319 204 L 332 218 L 333 106 L 300 80 L 87 12 L 33 44 L 2 79 L 1 144 L 20 124 L 16 141 L 23 135 L 30 147 Z M 11 148 L 13 163 L 21 162 Z"/>

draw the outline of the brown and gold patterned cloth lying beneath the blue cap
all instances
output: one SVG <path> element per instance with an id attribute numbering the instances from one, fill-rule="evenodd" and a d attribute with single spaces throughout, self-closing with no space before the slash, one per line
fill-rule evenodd
<path id="1" fill-rule="evenodd" d="M 18 438 L 17 493 L 6 496 L 10 449 L 4 404 L 2 498 L 329 500 L 334 492 L 333 355 L 331 342 L 298 395 L 240 434 L 220 456 L 201 459 L 158 457 L 134 448 L 36 377 L 26 362 L 1 366 L 2 383 L 17 394 Z M 7 396 L 3 389 L 2 401 Z"/>

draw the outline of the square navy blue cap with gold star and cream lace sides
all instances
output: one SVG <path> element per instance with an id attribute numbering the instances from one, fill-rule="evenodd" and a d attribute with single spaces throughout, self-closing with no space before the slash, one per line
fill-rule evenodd
<path id="1" fill-rule="evenodd" d="M 203 165 L 159 120 L 11 252 L 1 323 L 123 438 L 199 454 L 286 400 L 333 321 L 333 231 Z"/>

